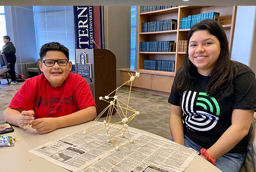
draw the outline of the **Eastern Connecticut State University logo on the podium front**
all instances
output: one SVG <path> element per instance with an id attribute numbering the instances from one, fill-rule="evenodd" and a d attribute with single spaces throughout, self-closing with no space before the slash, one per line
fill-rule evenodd
<path id="1" fill-rule="evenodd" d="M 80 63 L 77 63 L 77 74 L 92 78 L 92 64 L 87 63 L 87 53 L 80 53 Z"/>

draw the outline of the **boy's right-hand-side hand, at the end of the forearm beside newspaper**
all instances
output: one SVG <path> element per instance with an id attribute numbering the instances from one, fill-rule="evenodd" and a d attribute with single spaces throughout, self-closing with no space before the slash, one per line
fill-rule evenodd
<path id="1" fill-rule="evenodd" d="M 57 129 L 56 118 L 39 118 L 35 119 L 32 128 L 40 134 L 49 133 Z"/>

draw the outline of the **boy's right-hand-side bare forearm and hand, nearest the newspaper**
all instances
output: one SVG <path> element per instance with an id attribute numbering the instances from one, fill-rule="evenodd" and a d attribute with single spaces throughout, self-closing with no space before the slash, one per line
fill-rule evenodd
<path id="1" fill-rule="evenodd" d="M 35 119 L 32 123 L 32 128 L 36 129 L 40 134 L 49 133 L 57 128 L 74 126 L 87 121 L 92 121 L 96 118 L 96 107 L 91 106 L 86 109 L 74 112 L 69 115 L 60 116 L 57 118 L 40 118 Z"/>

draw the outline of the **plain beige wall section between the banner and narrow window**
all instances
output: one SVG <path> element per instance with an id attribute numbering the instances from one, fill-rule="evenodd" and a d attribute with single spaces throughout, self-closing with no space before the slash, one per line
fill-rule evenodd
<path id="1" fill-rule="evenodd" d="M 104 6 L 105 49 L 117 59 L 117 86 L 120 86 L 120 69 L 130 68 L 131 6 Z"/>

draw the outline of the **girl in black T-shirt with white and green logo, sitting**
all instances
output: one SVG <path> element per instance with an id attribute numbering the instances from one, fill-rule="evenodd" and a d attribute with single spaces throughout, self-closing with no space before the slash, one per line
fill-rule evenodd
<path id="1" fill-rule="evenodd" d="M 246 65 L 230 60 L 219 22 L 206 19 L 188 35 L 184 65 L 171 94 L 173 141 L 198 151 L 223 172 L 238 172 L 256 109 L 256 80 Z"/>

